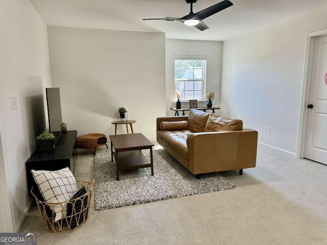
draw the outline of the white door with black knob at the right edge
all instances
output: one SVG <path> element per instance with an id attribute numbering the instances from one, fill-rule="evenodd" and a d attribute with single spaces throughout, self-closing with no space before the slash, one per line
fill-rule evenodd
<path id="1" fill-rule="evenodd" d="M 305 158 L 327 164 L 327 36 L 315 38 L 308 110 Z"/>

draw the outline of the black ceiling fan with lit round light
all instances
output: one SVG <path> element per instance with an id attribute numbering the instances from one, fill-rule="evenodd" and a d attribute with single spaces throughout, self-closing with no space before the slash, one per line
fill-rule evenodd
<path id="1" fill-rule="evenodd" d="M 154 18 L 154 19 L 143 19 L 143 20 L 158 20 L 162 19 L 165 21 L 179 21 L 183 22 L 187 26 L 193 26 L 201 31 L 204 31 L 205 29 L 208 29 L 209 27 L 202 22 L 203 19 L 206 17 L 209 17 L 213 14 L 218 13 L 219 11 L 222 11 L 233 4 L 228 1 L 224 0 L 218 4 L 215 4 L 211 7 L 208 7 L 204 10 L 201 10 L 197 13 L 193 13 L 193 5 L 197 2 L 198 0 L 185 0 L 186 3 L 188 3 L 191 6 L 191 12 L 188 15 L 185 15 L 184 17 L 181 18 L 174 18 L 174 17 L 166 17 L 166 18 Z"/>

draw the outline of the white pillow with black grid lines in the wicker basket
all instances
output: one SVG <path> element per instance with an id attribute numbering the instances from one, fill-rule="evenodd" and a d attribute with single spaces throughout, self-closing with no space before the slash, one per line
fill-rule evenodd
<path id="1" fill-rule="evenodd" d="M 66 202 L 77 192 L 75 177 L 68 167 L 55 171 L 32 169 L 31 172 L 44 202 Z M 55 222 L 63 217 L 63 210 L 67 214 L 66 204 L 54 206 L 54 212 L 56 213 Z"/>

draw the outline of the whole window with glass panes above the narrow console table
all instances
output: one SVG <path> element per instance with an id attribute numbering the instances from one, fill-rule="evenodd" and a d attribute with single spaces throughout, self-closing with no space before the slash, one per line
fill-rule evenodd
<path id="1" fill-rule="evenodd" d="M 175 56 L 175 89 L 181 101 L 204 100 L 205 56 Z"/>

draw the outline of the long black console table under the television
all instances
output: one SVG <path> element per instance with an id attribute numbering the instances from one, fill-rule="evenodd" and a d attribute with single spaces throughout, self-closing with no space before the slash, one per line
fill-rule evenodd
<path id="1" fill-rule="evenodd" d="M 63 133 L 52 152 L 35 151 L 26 162 L 27 187 L 30 194 L 32 188 L 31 169 L 34 170 L 58 170 L 69 167 L 74 174 L 77 154 L 74 149 L 77 131 L 71 130 Z"/>

